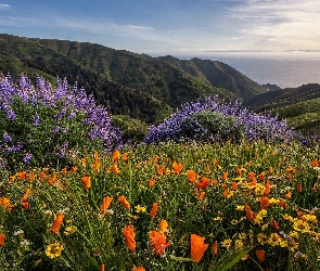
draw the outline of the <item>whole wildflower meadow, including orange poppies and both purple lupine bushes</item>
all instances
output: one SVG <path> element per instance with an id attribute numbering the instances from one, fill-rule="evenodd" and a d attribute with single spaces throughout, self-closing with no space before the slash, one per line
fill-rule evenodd
<path id="1" fill-rule="evenodd" d="M 284 120 L 207 99 L 130 145 L 37 82 L 0 86 L 0 270 L 320 269 L 319 144 Z"/>

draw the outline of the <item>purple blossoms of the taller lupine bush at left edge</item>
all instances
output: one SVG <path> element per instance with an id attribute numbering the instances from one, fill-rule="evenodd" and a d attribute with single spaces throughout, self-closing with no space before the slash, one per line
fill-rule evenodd
<path id="1" fill-rule="evenodd" d="M 34 129 L 43 129 L 46 121 L 48 121 L 42 122 L 43 112 L 52 111 L 54 114 L 44 113 L 44 117 L 51 116 L 49 121 L 51 121 L 52 126 L 50 127 L 52 128 L 50 128 L 49 134 L 52 134 L 52 137 L 59 138 L 59 133 L 66 134 L 69 132 L 71 128 L 68 125 L 63 127 L 61 126 L 62 124 L 79 121 L 79 129 L 87 128 L 85 137 L 92 140 L 100 139 L 105 151 L 110 152 L 121 144 L 121 132 L 111 125 L 111 116 L 106 109 L 101 105 L 97 105 L 93 95 L 87 95 L 84 89 L 78 89 L 76 85 L 69 88 L 66 80 L 57 80 L 56 87 L 52 88 L 49 82 L 46 82 L 40 77 L 37 78 L 36 87 L 24 75 L 21 76 L 17 86 L 13 83 L 10 75 L 1 78 L 0 117 L 7 116 L 5 121 L 12 121 L 13 126 L 15 119 L 20 116 L 18 114 L 22 114 L 20 111 L 16 111 L 16 101 L 28 106 L 30 112 L 33 112 L 30 119 L 35 127 Z M 0 150 L 2 150 L 1 153 L 3 156 L 3 153 L 18 152 L 25 146 L 25 153 L 26 151 L 27 153 L 21 156 L 22 160 L 29 163 L 33 156 L 35 157 L 33 150 L 28 149 L 27 142 L 23 141 L 14 144 L 14 141 L 17 141 L 14 134 L 9 134 L 5 130 L 1 131 L 1 128 L 0 132 L 3 134 L 2 139 L 0 138 Z M 57 152 L 60 156 L 64 156 L 66 152 L 72 151 L 68 147 L 77 149 L 79 146 L 72 146 L 68 143 L 62 144 L 61 150 Z"/>

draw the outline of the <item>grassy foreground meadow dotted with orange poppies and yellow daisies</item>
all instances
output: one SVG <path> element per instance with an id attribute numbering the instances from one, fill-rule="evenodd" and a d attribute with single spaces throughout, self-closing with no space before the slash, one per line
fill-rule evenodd
<path id="1" fill-rule="evenodd" d="M 318 160 L 297 144 L 167 143 L 22 169 L 1 181 L 0 267 L 319 270 Z"/>

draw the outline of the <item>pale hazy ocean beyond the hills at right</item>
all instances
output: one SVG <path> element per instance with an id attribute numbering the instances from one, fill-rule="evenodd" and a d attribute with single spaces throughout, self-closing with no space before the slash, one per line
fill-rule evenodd
<path id="1" fill-rule="evenodd" d="M 320 51 L 210 52 L 197 57 L 221 61 L 260 85 L 296 88 L 320 83 Z"/>

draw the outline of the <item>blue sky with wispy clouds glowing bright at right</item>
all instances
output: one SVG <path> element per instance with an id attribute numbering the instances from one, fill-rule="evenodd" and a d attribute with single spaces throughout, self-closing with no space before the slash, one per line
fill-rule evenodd
<path id="1" fill-rule="evenodd" d="M 0 0 L 0 33 L 152 55 L 320 50 L 320 0 Z"/>

